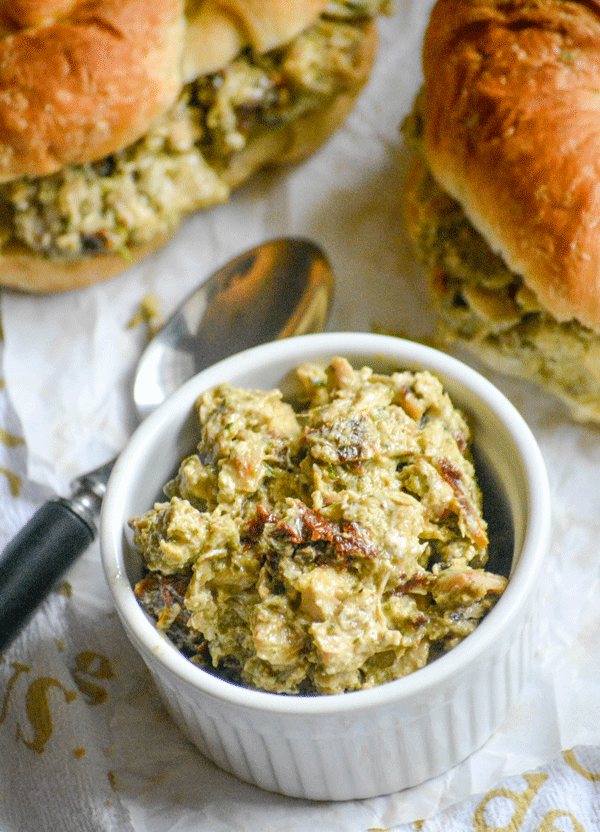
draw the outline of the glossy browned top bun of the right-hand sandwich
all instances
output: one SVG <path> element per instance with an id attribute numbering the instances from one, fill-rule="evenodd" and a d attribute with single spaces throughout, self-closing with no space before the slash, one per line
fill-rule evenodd
<path id="1" fill-rule="evenodd" d="M 438 0 L 424 153 L 558 320 L 600 329 L 600 3 Z"/>

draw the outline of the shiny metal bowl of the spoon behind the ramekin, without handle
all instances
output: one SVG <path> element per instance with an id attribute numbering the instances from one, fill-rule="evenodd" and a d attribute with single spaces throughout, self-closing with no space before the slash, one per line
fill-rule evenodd
<path id="1" fill-rule="evenodd" d="M 133 385 L 140 418 L 228 355 L 319 332 L 332 290 L 331 267 L 309 240 L 284 237 L 240 254 L 195 289 L 146 347 Z"/>

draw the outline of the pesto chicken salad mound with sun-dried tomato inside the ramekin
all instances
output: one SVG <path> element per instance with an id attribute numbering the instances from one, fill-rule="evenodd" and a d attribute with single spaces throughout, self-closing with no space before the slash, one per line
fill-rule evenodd
<path id="1" fill-rule="evenodd" d="M 227 384 L 197 452 L 130 525 L 142 607 L 184 655 L 250 688 L 371 688 L 453 648 L 507 581 L 485 568 L 470 432 L 439 379 L 297 370 L 298 400 Z"/>

